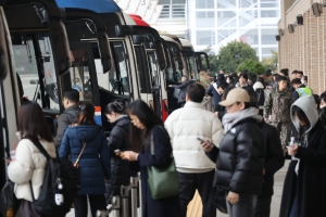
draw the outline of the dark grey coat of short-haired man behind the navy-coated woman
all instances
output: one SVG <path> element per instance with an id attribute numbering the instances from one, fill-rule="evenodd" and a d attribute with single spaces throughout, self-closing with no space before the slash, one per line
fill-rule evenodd
<path id="1" fill-rule="evenodd" d="M 57 137 L 54 138 L 54 144 L 57 149 L 59 149 L 61 145 L 61 141 L 67 126 L 75 124 L 77 122 L 78 113 L 79 113 L 79 105 L 76 104 L 67 107 L 58 117 L 58 130 L 57 130 Z"/>

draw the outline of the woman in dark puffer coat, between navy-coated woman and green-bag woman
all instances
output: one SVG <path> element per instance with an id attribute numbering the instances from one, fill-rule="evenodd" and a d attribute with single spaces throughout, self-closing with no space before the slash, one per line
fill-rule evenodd
<path id="1" fill-rule="evenodd" d="M 129 169 L 129 162 L 115 155 L 115 150 L 129 151 L 130 119 L 125 114 L 125 105 L 122 102 L 111 102 L 105 107 L 108 120 L 115 124 L 109 138 L 109 152 L 111 157 L 111 177 L 106 182 L 105 199 L 110 203 L 113 195 L 121 194 L 121 186 L 128 186 L 130 177 L 137 177 L 137 173 Z"/>

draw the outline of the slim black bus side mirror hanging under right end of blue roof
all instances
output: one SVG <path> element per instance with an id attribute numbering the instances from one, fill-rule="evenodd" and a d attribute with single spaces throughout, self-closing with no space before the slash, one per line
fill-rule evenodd
<path id="1" fill-rule="evenodd" d="M 109 38 L 105 31 L 98 33 L 98 43 L 101 54 L 101 62 L 103 66 L 103 73 L 108 73 L 111 69 L 111 49 Z"/>

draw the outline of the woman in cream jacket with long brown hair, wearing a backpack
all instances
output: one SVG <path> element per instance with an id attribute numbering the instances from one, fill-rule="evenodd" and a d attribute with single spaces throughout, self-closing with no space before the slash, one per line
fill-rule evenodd
<path id="1" fill-rule="evenodd" d="M 45 118 L 41 107 L 36 102 L 22 105 L 17 113 L 20 142 L 15 152 L 15 159 L 8 167 L 9 179 L 15 183 L 14 193 L 22 201 L 21 213 L 25 217 L 38 217 L 33 207 L 33 196 L 37 199 L 40 193 L 46 174 L 47 157 L 32 142 L 39 140 L 40 144 L 51 157 L 57 157 L 53 136 Z"/>

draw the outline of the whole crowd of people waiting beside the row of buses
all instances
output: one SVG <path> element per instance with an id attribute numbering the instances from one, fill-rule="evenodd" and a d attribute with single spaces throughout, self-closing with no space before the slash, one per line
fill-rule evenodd
<path id="1" fill-rule="evenodd" d="M 96 125 L 93 106 L 80 104 L 76 90 L 64 92 L 65 111 L 58 118 L 54 139 L 40 106 L 22 105 L 21 141 L 8 174 L 16 183 L 24 216 L 41 216 L 33 207 L 29 181 L 37 199 L 47 164 L 26 137 L 38 139 L 52 157 L 74 163 L 82 156 L 76 217 L 87 216 L 87 199 L 92 216 L 106 209 L 137 171 L 142 180 L 143 217 L 186 217 L 196 191 L 203 217 L 215 217 L 216 207 L 225 207 L 230 217 L 268 217 L 274 174 L 287 158 L 291 162 L 279 216 L 326 216 L 326 92 L 313 94 L 302 72 L 293 71 L 289 77 L 286 68 L 260 77 L 247 71 L 231 75 L 223 71 L 208 89 L 187 77 L 183 81 L 175 86 L 181 90 L 183 107 L 165 123 L 141 100 L 127 107 L 109 103 L 104 110 L 113 124 L 109 137 Z M 214 112 L 201 104 L 206 94 L 213 98 Z M 179 192 L 154 199 L 148 169 L 165 168 L 173 159 Z M 216 202 L 221 195 L 222 202 Z"/>

